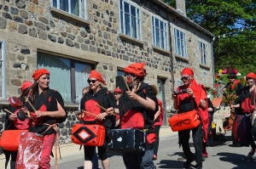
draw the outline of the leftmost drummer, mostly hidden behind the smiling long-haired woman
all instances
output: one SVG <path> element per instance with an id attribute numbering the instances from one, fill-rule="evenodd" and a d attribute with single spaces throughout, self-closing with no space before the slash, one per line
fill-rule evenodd
<path id="1" fill-rule="evenodd" d="M 30 81 L 23 82 L 20 87 L 21 93 L 20 93 L 19 99 L 23 104 L 25 104 L 24 97 L 26 96 L 27 98 L 29 98 L 29 96 L 31 94 L 31 91 L 32 91 L 31 87 L 32 87 L 32 82 L 30 82 Z M 31 122 L 28 119 L 26 119 L 25 121 L 20 121 L 17 118 L 16 113 L 19 110 L 17 110 L 11 104 L 9 104 L 8 110 L 14 114 L 10 115 L 9 113 L 6 113 L 5 122 L 4 122 L 4 130 L 15 130 L 15 129 L 24 130 L 24 129 L 27 129 L 31 125 Z M 11 156 L 10 169 L 15 169 L 17 151 L 9 151 L 9 150 L 3 149 L 3 154 L 5 155 L 5 169 L 8 166 L 10 156 Z"/>

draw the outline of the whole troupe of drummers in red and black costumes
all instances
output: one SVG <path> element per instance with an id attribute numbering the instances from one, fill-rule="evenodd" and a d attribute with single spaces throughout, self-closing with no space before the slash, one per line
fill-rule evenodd
<path id="1" fill-rule="evenodd" d="M 80 124 L 76 124 L 73 127 L 77 131 L 72 133 L 72 137 L 78 142 L 80 140 L 80 144 L 84 146 L 84 169 L 98 168 L 97 155 L 102 161 L 103 168 L 108 169 L 110 166 L 108 146 L 114 142 L 111 134 L 119 134 L 120 131 L 132 129 L 134 130 L 130 132 L 134 134 L 137 133 L 136 130 L 144 134 L 144 143 L 141 143 L 143 144 L 143 150 L 141 147 L 139 148 L 140 150 L 134 148 L 134 151 L 131 149 L 125 151 L 124 149 L 122 157 L 125 167 L 127 169 L 156 168 L 154 160 L 157 159 L 159 147 L 159 132 L 164 111 L 163 105 L 160 99 L 156 98 L 157 87 L 143 82 L 146 76 L 144 63 L 131 64 L 124 68 L 124 72 L 126 90 L 115 88 L 111 93 L 108 88 L 102 87 L 102 84 L 106 85 L 102 75 L 96 70 L 90 71 L 89 87 L 85 87 L 82 91 L 83 98 L 79 105 L 80 111 L 77 112 Z M 29 149 L 27 147 L 28 142 L 26 142 L 28 138 L 21 139 L 23 135 L 20 134 L 20 144 L 22 145 L 19 146 L 19 150 L 9 151 L 3 149 L 4 155 L 6 155 L 5 168 L 7 168 L 10 158 L 11 169 L 50 168 L 50 155 L 52 155 L 55 139 L 58 142 L 58 123 L 66 121 L 67 110 L 65 110 L 61 94 L 49 89 L 49 74 L 49 70 L 46 69 L 36 70 L 32 75 L 34 82 L 26 81 L 21 85 L 19 98 L 21 106 L 9 105 L 4 127 L 6 131 L 27 130 L 26 134 L 22 132 L 24 137 L 26 135 L 28 135 L 27 137 L 39 137 L 40 139 L 36 144 L 40 145 L 38 149 L 40 149 L 39 156 L 41 158 L 38 161 L 33 159 L 31 162 L 24 160 L 25 151 Z M 239 144 L 250 144 L 252 150 L 248 155 L 253 156 L 256 149 L 253 141 L 253 134 L 256 132 L 256 122 L 253 123 L 256 116 L 256 110 L 254 110 L 256 76 L 254 73 L 247 74 L 247 87 L 242 87 L 241 84 L 238 84 L 236 75 L 230 74 L 229 78 L 230 83 L 236 82 L 236 95 L 238 97 L 236 104 L 232 104 L 230 107 L 236 110 L 236 115 L 241 115 L 241 121 L 247 126 L 245 137 L 243 137 L 246 138 L 246 141 L 241 142 L 240 140 Z M 207 133 L 208 127 L 212 124 L 214 107 L 211 101 L 207 99 L 206 88 L 195 81 L 193 70 L 184 68 L 181 73 L 181 80 L 183 81 L 183 86 L 177 87 L 177 90 L 172 93 L 173 106 L 177 110 L 177 115 L 172 120 L 174 118 L 182 118 L 185 114 L 193 114 L 195 116 L 191 125 L 194 126 L 190 127 L 189 124 L 184 127 L 182 124 L 177 124 L 177 121 L 172 123 L 171 118 L 169 122 L 170 126 L 173 127 L 172 129 L 178 131 L 178 144 L 182 146 L 183 154 L 186 158 L 183 167 L 187 168 L 195 161 L 195 167 L 202 168 L 202 161 L 207 158 Z M 247 102 L 251 106 L 245 105 L 245 100 L 248 99 L 249 101 Z M 247 109 L 244 108 L 245 106 Z M 20 117 L 22 113 L 26 115 L 25 119 Z M 90 132 L 93 129 L 98 130 L 97 133 L 102 133 L 102 140 L 96 143 L 98 140 L 95 139 L 90 144 L 83 144 L 83 141 L 89 138 L 83 138 L 81 132 L 91 126 Z M 192 131 L 195 145 L 195 155 L 189 148 L 190 131 Z M 234 142 L 237 143 L 238 141 L 234 140 Z"/>

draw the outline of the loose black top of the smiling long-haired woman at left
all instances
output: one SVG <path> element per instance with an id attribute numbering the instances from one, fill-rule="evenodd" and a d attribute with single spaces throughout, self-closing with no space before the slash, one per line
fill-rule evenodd
<path id="1" fill-rule="evenodd" d="M 55 90 L 48 89 L 48 91 L 46 93 L 42 92 L 41 94 L 36 94 L 35 100 L 36 101 L 34 103 L 32 103 L 33 107 L 35 108 L 35 110 L 42 110 L 42 111 L 58 110 L 58 105 L 57 105 L 57 100 L 58 100 L 59 104 L 61 104 L 61 107 L 66 111 L 66 115 L 67 115 L 67 110 L 64 107 L 64 101 L 61 97 L 61 94 Z M 28 106 L 28 110 L 31 112 L 34 111 L 34 110 L 32 110 L 31 106 Z M 66 118 L 67 118 L 67 116 L 66 116 Z M 41 119 L 41 124 L 36 125 L 35 127 L 31 127 L 30 131 L 43 133 L 49 127 L 47 125 L 44 125 L 44 123 L 51 125 L 51 124 L 54 124 L 55 122 L 56 122 L 56 118 L 45 116 Z M 54 133 L 54 132 L 55 132 L 55 130 L 53 129 L 53 127 L 50 127 L 49 130 L 47 132 L 45 132 L 44 134 L 50 134 L 50 133 Z"/>

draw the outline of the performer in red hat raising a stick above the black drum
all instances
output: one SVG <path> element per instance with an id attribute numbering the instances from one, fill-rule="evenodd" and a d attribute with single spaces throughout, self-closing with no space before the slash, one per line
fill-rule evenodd
<path id="1" fill-rule="evenodd" d="M 123 161 L 127 169 L 154 169 L 153 144 L 156 138 L 153 129 L 154 113 L 158 110 L 158 102 L 152 87 L 143 82 L 146 73 L 144 63 L 131 64 L 124 68 L 125 79 L 131 91 L 125 92 L 124 115 L 121 128 L 137 128 L 146 132 L 145 152 L 125 152 Z"/>

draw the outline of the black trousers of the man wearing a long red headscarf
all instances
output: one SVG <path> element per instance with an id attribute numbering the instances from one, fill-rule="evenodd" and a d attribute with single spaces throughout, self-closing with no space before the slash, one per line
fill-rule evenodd
<path id="1" fill-rule="evenodd" d="M 189 130 L 183 130 L 178 132 L 179 144 L 183 146 L 183 153 L 187 160 L 194 159 L 194 155 L 189 147 L 190 131 L 192 130 L 192 138 L 195 146 L 195 161 L 196 166 L 202 166 L 202 141 L 203 141 L 203 130 L 201 123 L 198 127 Z"/>

